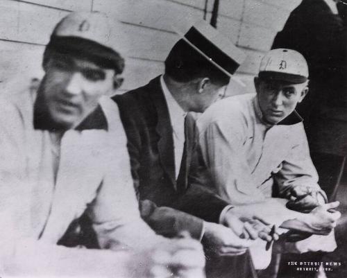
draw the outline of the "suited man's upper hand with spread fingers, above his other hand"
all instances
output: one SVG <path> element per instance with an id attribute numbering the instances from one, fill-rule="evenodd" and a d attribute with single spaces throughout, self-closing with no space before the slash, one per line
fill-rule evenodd
<path id="1" fill-rule="evenodd" d="M 271 234 L 271 225 L 259 216 L 248 215 L 246 213 L 237 214 L 237 209 L 230 208 L 224 218 L 223 225 L 230 227 L 235 234 L 241 238 L 261 238 L 264 241 L 277 241 L 278 234 Z M 242 220 L 240 220 L 242 219 Z"/>

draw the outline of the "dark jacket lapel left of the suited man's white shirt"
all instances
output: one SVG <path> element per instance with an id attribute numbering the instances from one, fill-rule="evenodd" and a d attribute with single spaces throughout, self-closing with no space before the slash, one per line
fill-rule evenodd
<path id="1" fill-rule="evenodd" d="M 160 78 L 155 78 L 151 82 L 151 98 L 157 111 L 157 125 L 155 130 L 160 136 L 158 141 L 158 152 L 160 162 L 164 171 L 169 176 L 171 183 L 176 188 L 175 161 L 174 161 L 174 139 L 172 138 L 172 127 L 169 116 L 169 109 L 164 98 L 164 92 L 160 86 Z"/>

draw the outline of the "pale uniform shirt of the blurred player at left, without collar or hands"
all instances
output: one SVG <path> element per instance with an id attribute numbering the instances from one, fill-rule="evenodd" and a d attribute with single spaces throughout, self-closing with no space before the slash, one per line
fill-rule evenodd
<path id="1" fill-rule="evenodd" d="M 103 248 L 141 248 L 158 240 L 139 216 L 117 106 L 110 99 L 102 103 L 108 130 L 65 132 L 56 168 L 51 132 L 33 127 L 30 94 L 0 99 L 0 260 L 4 256 L 11 263 L 22 253 L 35 254 L 40 244 L 46 247 L 39 257 L 83 256 L 56 243 L 84 211 Z M 33 250 L 23 241 L 31 242 Z M 94 256 L 93 251 L 84 255 Z M 36 256 L 29 259 L 40 264 Z M 59 263 L 64 268 L 69 260 L 51 263 L 59 269 Z"/>

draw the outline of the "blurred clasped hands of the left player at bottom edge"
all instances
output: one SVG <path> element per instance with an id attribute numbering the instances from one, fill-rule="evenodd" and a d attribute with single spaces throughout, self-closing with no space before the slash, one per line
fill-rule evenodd
<path id="1" fill-rule="evenodd" d="M 130 277 L 205 278 L 205 256 L 201 243 L 190 236 L 167 239 L 136 255 Z"/>

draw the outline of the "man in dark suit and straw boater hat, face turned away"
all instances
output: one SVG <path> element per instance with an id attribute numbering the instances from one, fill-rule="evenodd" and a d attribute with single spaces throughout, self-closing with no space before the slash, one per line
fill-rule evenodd
<path id="1" fill-rule="evenodd" d="M 242 223 L 226 214 L 228 202 L 187 186 L 192 141 L 185 122 L 192 119 L 185 115 L 217 101 L 243 60 L 242 51 L 202 21 L 171 49 L 163 76 L 113 97 L 128 137 L 142 217 L 164 236 L 188 230 L 218 254 L 242 254 L 251 241 L 239 236 L 255 238 L 263 226 Z M 260 232 L 265 238 L 266 231 Z"/>

